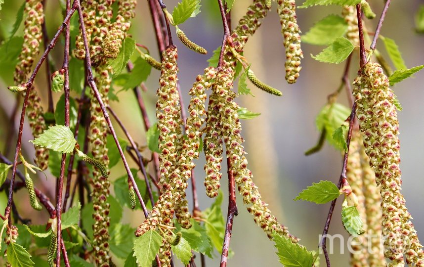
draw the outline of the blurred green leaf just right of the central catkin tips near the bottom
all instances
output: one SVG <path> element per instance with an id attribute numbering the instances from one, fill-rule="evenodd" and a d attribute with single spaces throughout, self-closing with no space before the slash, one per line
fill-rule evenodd
<path id="1" fill-rule="evenodd" d="M 209 239 L 211 235 L 198 222 L 194 221 L 193 219 L 190 219 L 190 222 L 192 224 L 191 228 L 184 229 L 175 221 L 174 226 L 176 227 L 176 231 L 181 232 L 182 237 L 188 242 L 192 250 L 212 258 L 213 247 L 211 239 Z"/>

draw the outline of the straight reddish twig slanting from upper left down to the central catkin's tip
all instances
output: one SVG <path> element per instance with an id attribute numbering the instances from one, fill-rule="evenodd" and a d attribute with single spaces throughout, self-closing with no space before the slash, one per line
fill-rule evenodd
<path id="1" fill-rule="evenodd" d="M 75 1 L 78 2 L 78 0 L 75 0 Z M 115 133 L 115 130 L 114 130 L 113 125 L 112 125 L 112 122 L 111 122 L 111 120 L 109 118 L 109 114 L 108 114 L 108 112 L 106 110 L 106 107 L 105 107 L 105 105 L 103 103 L 103 100 L 102 100 L 102 98 L 100 96 L 100 93 L 99 93 L 99 91 L 97 89 L 96 83 L 94 82 L 93 72 L 91 70 L 90 50 L 89 50 L 89 47 L 88 47 L 88 42 L 87 42 L 87 37 L 86 37 L 86 32 L 85 32 L 83 11 L 81 10 L 81 6 L 79 4 L 78 4 L 78 15 L 80 17 L 80 27 L 81 27 L 81 32 L 82 32 L 83 40 L 84 40 L 85 65 L 86 65 L 86 69 L 87 69 L 87 82 L 88 82 L 88 85 L 93 90 L 94 96 L 96 97 L 96 99 L 97 99 L 97 101 L 99 103 L 100 109 L 102 110 L 102 113 L 103 113 L 103 117 L 105 118 L 105 121 L 106 121 L 107 125 L 109 126 L 109 129 L 110 129 L 110 131 L 112 133 L 113 139 L 115 140 L 115 144 L 118 147 L 118 151 L 119 151 L 119 154 L 121 155 L 121 159 L 122 159 L 122 161 L 124 163 L 124 167 L 125 167 L 125 170 L 127 171 L 127 175 L 129 177 L 129 180 L 133 184 L 135 194 L 137 195 L 138 200 L 140 201 L 141 207 L 143 209 L 144 216 L 147 218 L 147 216 L 149 215 L 149 213 L 147 211 L 146 205 L 144 204 L 143 198 L 142 198 L 142 196 L 140 194 L 140 191 L 138 190 L 138 186 L 135 183 L 135 180 L 134 180 L 134 177 L 132 176 L 131 170 L 129 169 L 129 166 L 128 166 L 128 163 L 127 163 L 127 159 L 125 158 L 125 155 L 124 155 L 124 151 L 122 150 L 122 147 L 121 147 L 121 145 L 120 145 L 120 143 L 118 141 L 118 136 Z"/>

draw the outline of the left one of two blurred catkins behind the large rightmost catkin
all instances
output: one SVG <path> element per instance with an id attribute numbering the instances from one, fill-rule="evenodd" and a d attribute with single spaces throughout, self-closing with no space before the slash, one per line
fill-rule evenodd
<path id="1" fill-rule="evenodd" d="M 346 166 L 346 177 L 352 189 L 352 193 L 356 196 L 358 200 L 357 210 L 361 216 L 362 222 L 364 223 L 362 229 L 367 232 L 367 215 L 365 211 L 365 197 L 363 192 L 363 182 L 362 182 L 362 168 L 361 168 L 361 158 L 360 158 L 360 146 L 362 146 L 362 138 L 358 131 L 352 133 L 352 138 L 350 140 L 349 146 L 349 157 Z M 348 203 L 349 206 L 352 203 Z M 351 240 L 351 247 L 353 252 L 350 257 L 350 266 L 351 267 L 364 267 L 368 266 L 368 244 L 367 236 L 358 235 Z"/>

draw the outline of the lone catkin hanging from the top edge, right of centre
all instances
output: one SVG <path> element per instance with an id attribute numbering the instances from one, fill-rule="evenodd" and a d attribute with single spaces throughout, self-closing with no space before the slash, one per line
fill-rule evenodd
<path id="1" fill-rule="evenodd" d="M 297 25 L 295 0 L 278 0 L 277 12 L 280 15 L 281 33 L 286 48 L 286 81 L 294 84 L 299 77 L 300 59 L 303 52 L 300 48 L 300 28 Z"/>

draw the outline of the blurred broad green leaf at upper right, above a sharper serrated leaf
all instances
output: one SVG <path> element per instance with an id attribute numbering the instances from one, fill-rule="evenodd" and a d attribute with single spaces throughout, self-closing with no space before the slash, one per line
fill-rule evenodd
<path id="1" fill-rule="evenodd" d="M 311 45 L 329 45 L 347 31 L 347 23 L 338 15 L 329 15 L 315 23 L 302 36 L 302 42 Z"/>

